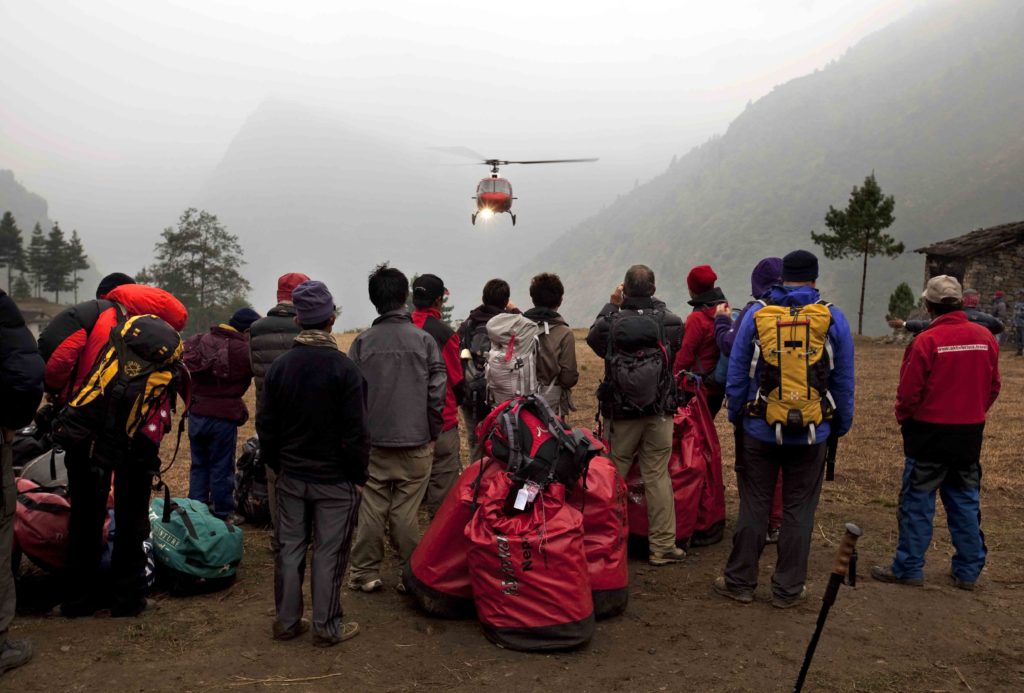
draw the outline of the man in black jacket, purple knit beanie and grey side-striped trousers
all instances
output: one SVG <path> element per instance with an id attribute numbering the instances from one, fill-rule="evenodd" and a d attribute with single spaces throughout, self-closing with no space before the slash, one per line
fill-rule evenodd
<path id="1" fill-rule="evenodd" d="M 341 581 L 348 563 L 370 443 L 366 382 L 331 335 L 334 298 L 319 281 L 295 289 L 302 332 L 266 374 L 256 409 L 260 454 L 278 473 L 273 637 L 291 640 L 302 620 L 306 550 L 313 544 L 313 644 L 358 633 L 342 623 Z"/>

